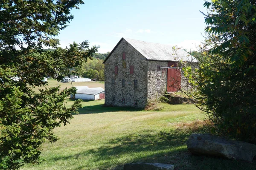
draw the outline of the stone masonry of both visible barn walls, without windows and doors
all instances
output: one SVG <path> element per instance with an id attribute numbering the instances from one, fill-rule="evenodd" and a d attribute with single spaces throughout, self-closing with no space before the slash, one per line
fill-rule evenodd
<path id="1" fill-rule="evenodd" d="M 157 73 L 157 65 L 167 67 L 168 62 L 147 60 L 123 39 L 105 61 L 105 105 L 143 108 L 148 100 L 163 96 L 167 90 L 167 69 L 161 68 Z M 118 67 L 117 75 L 115 66 Z M 134 74 L 130 74 L 130 66 L 134 66 Z M 122 79 L 125 87 L 122 87 Z M 160 88 L 157 88 L 157 79 Z M 137 88 L 134 88 L 134 80 L 138 82 Z M 182 73 L 181 88 L 187 86 Z"/>

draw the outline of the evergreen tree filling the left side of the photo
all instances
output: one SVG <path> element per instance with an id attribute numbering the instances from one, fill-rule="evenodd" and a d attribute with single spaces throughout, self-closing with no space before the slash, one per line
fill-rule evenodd
<path id="1" fill-rule="evenodd" d="M 40 162 L 40 146 L 55 142 L 52 130 L 69 123 L 80 101 L 67 108 L 64 101 L 75 88 L 60 91 L 45 86 L 45 75 L 61 80 L 64 68 L 74 68 L 92 58 L 98 47 L 88 41 L 58 48 L 54 36 L 73 19 L 72 8 L 82 0 L 29 0 L 0 2 L 0 169 L 18 169 Z M 55 50 L 43 50 L 43 46 Z M 15 81 L 12 77 L 20 77 Z"/>

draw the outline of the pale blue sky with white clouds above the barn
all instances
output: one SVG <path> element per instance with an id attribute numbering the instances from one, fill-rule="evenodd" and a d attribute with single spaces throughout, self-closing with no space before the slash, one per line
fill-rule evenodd
<path id="1" fill-rule="evenodd" d="M 195 49 L 204 38 L 203 0 L 84 0 L 58 35 L 61 47 L 89 40 L 100 53 L 122 38 Z"/>

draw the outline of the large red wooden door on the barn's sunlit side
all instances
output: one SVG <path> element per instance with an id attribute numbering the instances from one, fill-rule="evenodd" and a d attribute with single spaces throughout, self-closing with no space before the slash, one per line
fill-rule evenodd
<path id="1" fill-rule="evenodd" d="M 168 68 L 167 71 L 167 92 L 180 90 L 180 70 L 177 68 Z"/>

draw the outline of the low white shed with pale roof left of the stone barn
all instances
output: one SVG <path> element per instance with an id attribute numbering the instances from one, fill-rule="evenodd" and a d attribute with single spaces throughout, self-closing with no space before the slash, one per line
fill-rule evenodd
<path id="1" fill-rule="evenodd" d="M 104 94 L 105 90 L 103 88 L 88 88 L 88 86 L 77 86 L 77 91 L 75 97 L 71 94 L 70 98 L 83 99 L 83 100 L 97 100 L 100 99 Z M 104 95 L 103 95 L 104 96 Z"/>

